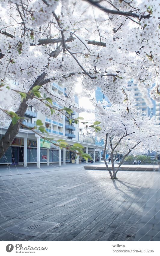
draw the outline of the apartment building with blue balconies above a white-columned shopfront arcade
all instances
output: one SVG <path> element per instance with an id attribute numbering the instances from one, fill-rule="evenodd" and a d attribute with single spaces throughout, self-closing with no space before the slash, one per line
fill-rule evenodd
<path id="1" fill-rule="evenodd" d="M 52 83 L 51 89 L 58 93 L 59 95 L 65 95 L 65 88 L 60 83 Z M 78 98 L 75 96 L 75 104 L 78 107 Z M 53 102 L 55 109 L 61 109 L 62 106 L 59 105 L 58 101 Z M 67 162 L 75 162 L 78 164 L 79 157 L 76 158 L 74 151 L 62 150 L 55 146 L 57 140 L 63 139 L 69 145 L 73 145 L 78 142 L 78 124 L 75 124 L 74 120 L 69 123 L 68 118 L 77 118 L 78 113 L 73 111 L 71 115 L 67 113 L 65 115 L 60 115 L 59 119 L 55 120 L 54 116 L 43 115 L 40 111 L 36 111 L 32 106 L 29 106 L 25 112 L 23 124 L 27 127 L 34 127 L 36 120 L 42 120 L 46 131 L 48 132 L 49 142 L 44 141 L 42 137 L 38 134 L 44 136 L 38 131 L 35 134 L 34 131 L 21 127 L 14 141 L 11 142 L 11 146 L 5 152 L 4 157 L 0 159 L 0 164 L 13 164 L 13 165 L 23 165 L 27 166 L 29 163 L 36 163 L 37 167 L 40 168 L 41 163 L 59 163 L 59 166 L 63 163 L 65 165 Z M 8 125 L 1 127 L 1 134 L 5 134 Z M 103 147 L 98 147 L 93 144 L 82 143 L 85 153 L 90 153 L 93 155 L 93 160 L 95 162 L 96 156 L 101 154 Z"/>

